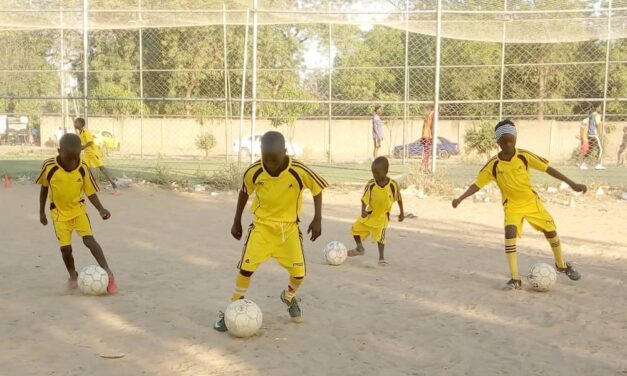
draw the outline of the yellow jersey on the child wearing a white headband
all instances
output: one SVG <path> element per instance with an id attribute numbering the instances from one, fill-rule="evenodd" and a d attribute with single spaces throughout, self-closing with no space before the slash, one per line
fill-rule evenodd
<path id="1" fill-rule="evenodd" d="M 490 159 L 479 172 L 475 184 L 481 188 L 495 181 L 501 190 L 503 204 L 524 205 L 537 198 L 531 187 L 530 168 L 545 172 L 549 161 L 530 151 L 516 149 L 511 161 L 501 160 L 498 155 Z"/>

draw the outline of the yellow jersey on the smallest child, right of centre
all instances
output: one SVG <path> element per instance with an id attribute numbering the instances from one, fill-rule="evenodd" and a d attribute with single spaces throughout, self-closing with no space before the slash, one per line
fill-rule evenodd
<path id="1" fill-rule="evenodd" d="M 384 187 L 379 186 L 374 179 L 366 184 L 361 201 L 366 205 L 369 215 L 364 218 L 364 224 L 377 228 L 387 224 L 392 205 L 399 198 L 398 183 L 389 180 Z"/>

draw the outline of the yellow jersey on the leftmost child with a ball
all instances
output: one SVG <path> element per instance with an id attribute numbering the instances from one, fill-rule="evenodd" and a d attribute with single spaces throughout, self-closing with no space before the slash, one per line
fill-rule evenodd
<path id="1" fill-rule="evenodd" d="M 83 160 L 72 171 L 59 165 L 57 158 L 44 162 L 36 181 L 49 187 L 50 215 L 56 221 L 69 221 L 85 212 L 85 199 L 98 192 L 98 183 Z"/>

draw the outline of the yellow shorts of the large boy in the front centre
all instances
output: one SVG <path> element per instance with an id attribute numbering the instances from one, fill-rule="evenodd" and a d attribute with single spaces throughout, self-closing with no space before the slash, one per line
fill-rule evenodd
<path id="1" fill-rule="evenodd" d="M 305 276 L 303 236 L 298 223 L 253 221 L 237 267 L 254 272 L 270 258 L 277 260 L 292 277 Z"/>

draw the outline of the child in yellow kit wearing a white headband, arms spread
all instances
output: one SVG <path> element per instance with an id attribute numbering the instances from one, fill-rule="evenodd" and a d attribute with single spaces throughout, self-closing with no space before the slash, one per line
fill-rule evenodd
<path id="1" fill-rule="evenodd" d="M 504 290 L 520 289 L 522 286 L 516 259 L 516 237 L 522 235 L 523 220 L 527 220 L 534 229 L 544 233 L 553 250 L 557 270 L 565 273 L 573 281 L 578 280 L 581 275 L 570 263 L 565 262 L 562 256 L 562 246 L 553 217 L 531 188 L 529 169 L 546 172 L 568 184 L 575 192 L 586 192 L 587 187 L 575 183 L 550 167 L 546 159 L 530 151 L 517 149 L 516 126 L 511 120 L 499 122 L 494 130 L 501 151 L 481 169 L 475 184 L 453 200 L 453 207 L 456 208 L 464 199 L 477 193 L 491 181 L 498 185 L 505 210 L 505 254 L 512 275 Z"/>

